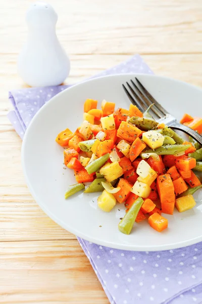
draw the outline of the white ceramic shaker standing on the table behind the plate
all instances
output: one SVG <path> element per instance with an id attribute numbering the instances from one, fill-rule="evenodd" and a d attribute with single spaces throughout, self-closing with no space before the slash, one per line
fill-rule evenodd
<path id="1" fill-rule="evenodd" d="M 18 57 L 18 72 L 31 87 L 56 86 L 70 71 L 70 60 L 56 35 L 58 16 L 49 4 L 33 3 L 27 11 L 28 40 Z"/>

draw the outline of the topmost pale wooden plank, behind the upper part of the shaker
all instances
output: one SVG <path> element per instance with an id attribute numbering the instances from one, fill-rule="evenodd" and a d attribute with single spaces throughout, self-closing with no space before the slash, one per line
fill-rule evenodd
<path id="1" fill-rule="evenodd" d="M 17 54 L 26 40 L 25 12 L 31 0 L 2 7 L 1 53 Z M 69 54 L 201 53 L 200 0 L 51 0 L 57 33 Z M 7 13 L 9 12 L 9 14 Z M 4 30 L 6 28 L 6 30 Z M 8 36 L 12 43 L 8 43 Z"/>

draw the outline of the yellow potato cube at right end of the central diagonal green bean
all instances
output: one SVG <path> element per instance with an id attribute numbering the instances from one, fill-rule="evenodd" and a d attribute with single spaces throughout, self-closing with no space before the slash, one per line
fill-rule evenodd
<path id="1" fill-rule="evenodd" d="M 107 163 L 99 170 L 99 173 L 104 175 L 107 181 L 111 182 L 123 175 L 123 169 L 118 162 Z"/>

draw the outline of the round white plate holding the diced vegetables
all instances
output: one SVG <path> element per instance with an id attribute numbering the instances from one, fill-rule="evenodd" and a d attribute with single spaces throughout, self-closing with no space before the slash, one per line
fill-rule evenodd
<path id="1" fill-rule="evenodd" d="M 71 233 L 100 245 L 140 251 L 173 249 L 202 241 L 202 205 L 184 213 L 175 210 L 165 215 L 169 227 L 163 233 L 151 229 L 147 221 L 134 225 L 129 236 L 118 230 L 124 204 L 106 213 L 96 206 L 97 194 L 79 193 L 64 199 L 68 185 L 74 184 L 73 171 L 64 170 L 63 148 L 55 138 L 59 132 L 72 131 L 81 124 L 86 98 L 129 107 L 122 83 L 132 74 L 97 78 L 73 86 L 46 103 L 28 127 L 22 147 L 22 164 L 30 192 L 49 217 Z M 148 91 L 178 120 L 183 113 L 201 116 L 202 90 L 191 85 L 153 75 L 138 75 Z M 199 196 L 201 193 L 199 194 Z M 197 194 L 198 196 L 198 194 Z M 198 198 L 198 201 L 200 199 Z M 119 211 L 119 209 L 121 209 Z M 102 227 L 100 227 L 102 226 Z"/>

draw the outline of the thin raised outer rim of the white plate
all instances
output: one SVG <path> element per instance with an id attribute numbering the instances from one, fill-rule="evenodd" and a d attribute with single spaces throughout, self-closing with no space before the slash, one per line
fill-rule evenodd
<path id="1" fill-rule="evenodd" d="M 91 79 L 87 79 L 83 82 L 79 82 L 78 84 L 74 84 L 68 88 L 66 88 L 65 90 L 59 92 L 58 94 L 56 94 L 55 96 L 53 96 L 51 99 L 48 100 L 47 103 L 45 103 L 38 111 L 37 113 L 34 115 L 33 119 L 31 120 L 29 126 L 27 127 L 26 131 L 25 131 L 25 135 L 23 138 L 23 142 L 22 142 L 22 148 L 21 148 L 21 164 L 22 164 L 22 169 L 23 169 L 23 174 L 25 177 L 25 181 L 27 184 L 27 187 L 30 191 L 31 196 L 33 197 L 33 199 L 35 200 L 35 202 L 39 205 L 39 207 L 46 213 L 47 216 L 49 216 L 52 220 L 54 220 L 58 225 L 60 225 L 61 227 L 63 227 L 63 229 L 67 230 L 68 232 L 74 234 L 76 237 L 82 238 L 86 241 L 92 242 L 94 244 L 97 245 L 102 245 L 102 246 L 106 246 L 106 247 L 110 247 L 113 249 L 121 249 L 121 250 L 129 250 L 129 251 L 164 251 L 164 250 L 171 250 L 171 249 L 177 249 L 177 248 L 183 248 L 186 246 L 190 246 L 193 244 L 196 244 L 200 241 L 202 241 L 202 235 L 193 239 L 189 239 L 183 242 L 178 242 L 178 243 L 172 243 L 172 244 L 164 244 L 164 245 L 153 245 L 153 246 L 138 246 L 138 245 L 128 245 L 128 244 L 124 244 L 124 243 L 120 243 L 120 244 L 114 244 L 108 241 L 98 241 L 96 239 L 94 239 L 93 237 L 88 237 L 86 235 L 83 235 L 82 232 L 77 231 L 76 229 L 72 229 L 72 227 L 69 227 L 68 223 L 64 222 L 63 220 L 59 219 L 55 214 L 53 214 L 48 208 L 46 208 L 46 206 L 43 204 L 43 202 L 41 202 L 41 199 L 37 196 L 37 194 L 35 194 L 35 191 L 31 185 L 31 183 L 29 182 L 29 178 L 26 172 L 26 165 L 25 165 L 25 158 L 24 158 L 24 154 L 25 154 L 25 145 L 26 145 L 26 140 L 29 134 L 29 129 L 31 128 L 31 126 L 34 124 L 35 120 L 37 119 L 37 117 L 39 115 L 41 115 L 41 113 L 43 111 L 45 111 L 46 107 L 48 106 L 49 103 L 53 103 L 55 102 L 55 99 L 58 98 L 59 95 L 63 95 L 66 91 L 68 90 L 72 90 L 73 88 L 77 87 L 77 86 L 81 86 L 81 85 L 85 85 L 85 83 L 88 82 L 94 82 L 98 79 L 105 79 L 105 78 L 118 78 L 120 76 L 128 76 L 129 78 L 132 77 L 136 77 L 137 75 L 144 75 L 146 78 L 157 78 L 157 79 L 166 79 L 169 81 L 174 81 L 189 87 L 192 87 L 196 90 L 199 90 L 202 94 L 202 88 L 180 81 L 180 80 L 175 80 L 173 78 L 169 78 L 169 77 L 164 77 L 161 75 L 155 75 L 155 74 L 145 74 L 145 73 L 119 73 L 119 74 L 111 74 L 111 75 L 103 75 L 101 77 L 96 77 L 96 78 L 91 78 Z"/>

